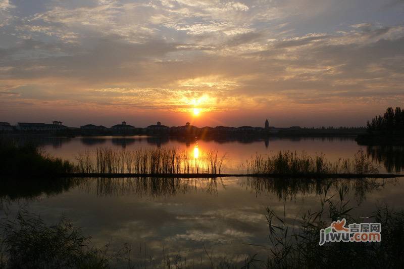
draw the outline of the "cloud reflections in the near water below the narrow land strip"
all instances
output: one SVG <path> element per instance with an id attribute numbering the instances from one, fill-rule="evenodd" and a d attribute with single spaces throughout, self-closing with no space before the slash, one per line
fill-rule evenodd
<path id="1" fill-rule="evenodd" d="M 125 180 L 132 183 L 128 185 Z M 133 260 L 144 259 L 143 252 L 142 255 L 138 254 L 139 244 L 142 249 L 143 244 L 146 244 L 147 256 L 156 258 L 161 258 L 164 247 L 166 254 L 176 255 L 181 250 L 181 255 L 187 260 L 199 260 L 200 256 L 205 260 L 204 245 L 208 251 L 212 251 L 214 257 L 226 255 L 234 261 L 242 261 L 240 257 L 245 257 L 246 253 L 265 255 L 262 248 L 247 244 L 269 245 L 264 216 L 267 206 L 280 215 L 283 215 L 285 208 L 289 222 L 293 222 L 296 216 L 308 208 L 313 211 L 319 208 L 319 194 L 315 188 L 309 188 L 310 191 L 305 193 L 292 191 L 295 193 L 293 199 L 285 200 L 279 198 L 278 191 L 271 189 L 261 189 L 258 194 L 256 191 L 251 192 L 250 188 L 254 188 L 251 186 L 256 185 L 246 186 L 246 178 L 227 177 L 218 180 L 221 184 L 215 185 L 214 195 L 206 192 L 204 187 L 211 185 L 212 180 L 142 181 L 139 178 L 108 178 L 100 181 L 90 178 L 80 181 L 80 186 L 73 185 L 58 195 L 30 201 L 27 209 L 40 213 L 48 221 L 55 222 L 61 215 L 71 218 L 99 246 L 112 241 L 112 249 L 119 249 L 123 242 L 133 243 Z M 105 195 L 100 195 L 99 184 L 107 184 L 107 181 L 110 181 L 108 186 L 132 186 L 137 191 L 107 191 Z M 360 184 L 351 182 L 345 184 L 350 190 L 347 200 L 354 200 L 355 189 Z M 168 184 L 168 188 L 161 186 L 164 183 Z M 297 181 L 285 181 L 282 185 L 271 181 L 268 183 L 266 186 L 271 188 L 306 189 L 298 187 L 306 183 Z M 184 192 L 185 184 L 192 188 L 185 188 Z M 311 184 L 316 186 L 315 182 Z M 367 194 L 366 202 L 355 209 L 360 216 L 370 215 L 377 201 L 390 205 L 401 203 L 404 194 L 402 186 L 393 186 L 388 182 L 384 185 L 365 185 L 368 186 L 363 188 Z M 140 186 L 143 186 L 143 191 Z M 169 191 L 170 195 L 162 191 L 175 186 L 181 191 Z M 334 185 L 329 195 L 337 192 L 338 188 Z M 11 207 L 16 210 L 18 204 L 12 203 Z"/>

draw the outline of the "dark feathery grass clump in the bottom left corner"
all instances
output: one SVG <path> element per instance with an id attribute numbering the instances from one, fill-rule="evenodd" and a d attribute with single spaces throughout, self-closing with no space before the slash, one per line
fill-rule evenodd
<path id="1" fill-rule="evenodd" d="M 1 268 L 107 268 L 105 252 L 89 246 L 71 222 L 46 226 L 42 219 L 19 212 L 0 223 Z"/>

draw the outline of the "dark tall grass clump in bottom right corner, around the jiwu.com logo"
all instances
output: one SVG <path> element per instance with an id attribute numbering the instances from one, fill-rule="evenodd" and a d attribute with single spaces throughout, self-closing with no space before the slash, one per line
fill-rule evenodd
<path id="1" fill-rule="evenodd" d="M 270 254 L 267 268 L 402 268 L 404 267 L 404 211 L 379 207 L 370 218 L 381 223 L 381 242 L 328 242 L 319 245 L 320 230 L 333 220 L 361 223 L 350 214 L 345 201 L 347 189 L 341 187 L 337 202 L 327 198 L 327 187 L 318 211 L 308 210 L 300 220 L 287 223 L 286 213 L 277 215 L 267 208 Z M 297 223 L 296 223 L 297 222 Z"/>

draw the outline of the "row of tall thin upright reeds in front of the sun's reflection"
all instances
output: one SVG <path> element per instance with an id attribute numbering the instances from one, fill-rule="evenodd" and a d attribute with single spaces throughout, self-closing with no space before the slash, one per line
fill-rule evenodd
<path id="1" fill-rule="evenodd" d="M 194 158 L 185 150 L 175 148 L 86 150 L 76 156 L 81 173 L 137 173 L 180 174 L 220 173 L 226 154 L 218 156 L 217 150 L 209 150 Z"/>

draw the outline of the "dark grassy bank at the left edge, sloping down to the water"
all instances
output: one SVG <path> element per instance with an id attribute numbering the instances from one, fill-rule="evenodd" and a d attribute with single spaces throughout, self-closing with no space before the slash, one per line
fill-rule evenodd
<path id="1" fill-rule="evenodd" d="M 71 173 L 74 165 L 45 155 L 32 143 L 0 138 L 0 173 L 3 177 L 54 177 Z"/>

